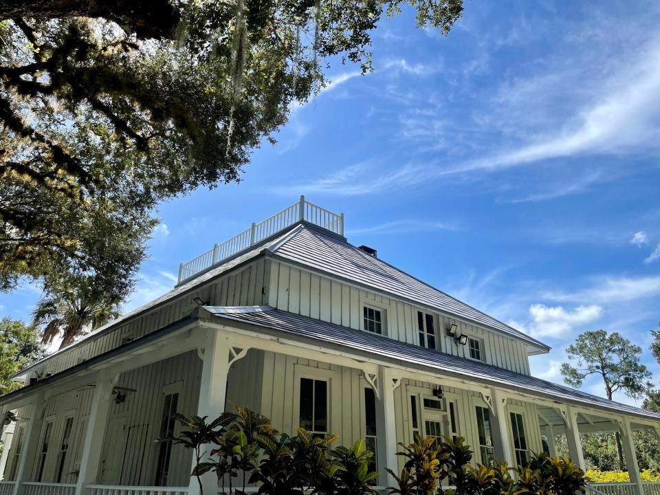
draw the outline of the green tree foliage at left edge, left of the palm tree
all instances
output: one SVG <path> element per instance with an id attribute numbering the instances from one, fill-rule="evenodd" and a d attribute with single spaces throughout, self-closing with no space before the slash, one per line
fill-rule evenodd
<path id="1" fill-rule="evenodd" d="M 0 320 L 0 395 L 10 393 L 22 384 L 10 380 L 10 376 L 32 362 L 43 358 L 41 336 L 33 326 L 21 320 Z"/>

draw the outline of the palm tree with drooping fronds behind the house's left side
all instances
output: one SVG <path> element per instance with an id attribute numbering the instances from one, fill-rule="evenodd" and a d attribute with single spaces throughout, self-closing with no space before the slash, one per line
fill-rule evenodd
<path id="1" fill-rule="evenodd" d="M 63 349 L 119 314 L 119 301 L 96 289 L 94 277 L 85 276 L 44 294 L 32 311 L 32 324 L 43 330 L 44 344 L 61 337 Z"/>

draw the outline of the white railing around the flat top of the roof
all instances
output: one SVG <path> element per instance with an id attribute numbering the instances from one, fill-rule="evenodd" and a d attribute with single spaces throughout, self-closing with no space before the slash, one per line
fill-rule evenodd
<path id="1" fill-rule="evenodd" d="M 217 263 L 221 263 L 221 261 L 225 261 L 234 254 L 246 250 L 278 232 L 282 232 L 299 221 L 307 221 L 335 234 L 344 235 L 343 213 L 330 212 L 305 201 L 305 196 L 300 196 L 300 201 L 289 206 L 289 208 L 264 221 L 252 223 L 252 227 L 232 237 L 229 241 L 214 245 L 212 250 L 208 250 L 197 256 L 197 258 L 188 261 L 188 263 L 181 263 L 179 265 L 178 283 L 207 270 Z"/>

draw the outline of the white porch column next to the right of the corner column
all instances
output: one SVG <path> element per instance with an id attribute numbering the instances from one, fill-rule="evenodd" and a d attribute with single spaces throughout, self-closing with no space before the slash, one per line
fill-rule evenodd
<path id="1" fill-rule="evenodd" d="M 378 483 L 381 486 L 391 486 L 394 478 L 388 474 L 386 468 L 399 472 L 397 459 L 397 420 L 394 409 L 394 391 L 399 385 L 394 370 L 379 366 L 378 388 L 380 388 L 380 407 L 376 410 L 376 429 L 378 432 L 378 470 L 380 476 Z M 404 402 L 404 404 L 406 404 Z M 404 411 L 407 409 L 404 407 Z"/>

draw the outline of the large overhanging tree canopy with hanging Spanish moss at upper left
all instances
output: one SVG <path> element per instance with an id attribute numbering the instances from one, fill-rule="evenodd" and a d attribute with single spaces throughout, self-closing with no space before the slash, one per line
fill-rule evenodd
<path id="1" fill-rule="evenodd" d="M 371 32 L 404 5 L 444 33 L 463 10 L 462 0 L 3 3 L 1 287 L 63 270 L 129 280 L 157 203 L 238 181 L 292 102 L 325 83 L 329 59 L 371 68 Z"/>

